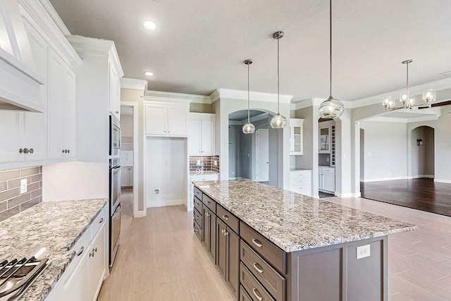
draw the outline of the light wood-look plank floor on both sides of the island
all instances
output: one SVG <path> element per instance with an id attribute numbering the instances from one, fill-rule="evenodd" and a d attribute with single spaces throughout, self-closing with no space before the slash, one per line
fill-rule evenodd
<path id="1" fill-rule="evenodd" d="M 192 212 L 153 208 L 132 219 L 131 198 L 125 190 L 121 247 L 98 300 L 233 300 L 192 232 Z M 388 300 L 451 300 L 450 217 L 369 199 L 327 200 L 418 225 L 389 236 Z"/>

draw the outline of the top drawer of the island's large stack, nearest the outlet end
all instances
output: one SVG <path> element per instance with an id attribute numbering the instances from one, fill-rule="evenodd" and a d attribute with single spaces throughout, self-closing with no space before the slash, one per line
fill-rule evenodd
<path id="1" fill-rule="evenodd" d="M 286 274 L 286 253 L 280 250 L 276 245 L 263 237 L 263 235 L 254 231 L 246 223 L 240 222 L 240 236 L 247 245 L 251 246 L 257 254 L 263 257 L 266 262 L 271 264 L 282 274 Z"/>

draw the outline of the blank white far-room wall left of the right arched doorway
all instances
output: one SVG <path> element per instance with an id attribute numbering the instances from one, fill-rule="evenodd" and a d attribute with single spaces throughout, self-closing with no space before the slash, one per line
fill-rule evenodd
<path id="1" fill-rule="evenodd" d="M 364 182 L 407 178 L 406 123 L 362 121 Z"/>

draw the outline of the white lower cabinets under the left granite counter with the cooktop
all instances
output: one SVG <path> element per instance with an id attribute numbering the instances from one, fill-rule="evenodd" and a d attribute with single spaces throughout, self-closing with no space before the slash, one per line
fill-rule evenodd
<path id="1" fill-rule="evenodd" d="M 72 250 L 75 258 L 66 267 L 46 301 L 97 300 L 108 272 L 107 211 L 104 208 Z"/>

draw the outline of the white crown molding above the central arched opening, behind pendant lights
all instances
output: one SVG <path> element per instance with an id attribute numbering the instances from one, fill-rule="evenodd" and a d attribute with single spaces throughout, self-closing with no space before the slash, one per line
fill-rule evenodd
<path id="1" fill-rule="evenodd" d="M 292 95 L 280 94 L 280 104 L 290 104 L 292 97 Z M 247 91 L 219 88 L 210 95 L 210 98 L 212 103 L 220 98 L 247 99 Z M 257 102 L 277 102 L 277 94 L 251 91 L 249 99 Z"/>

